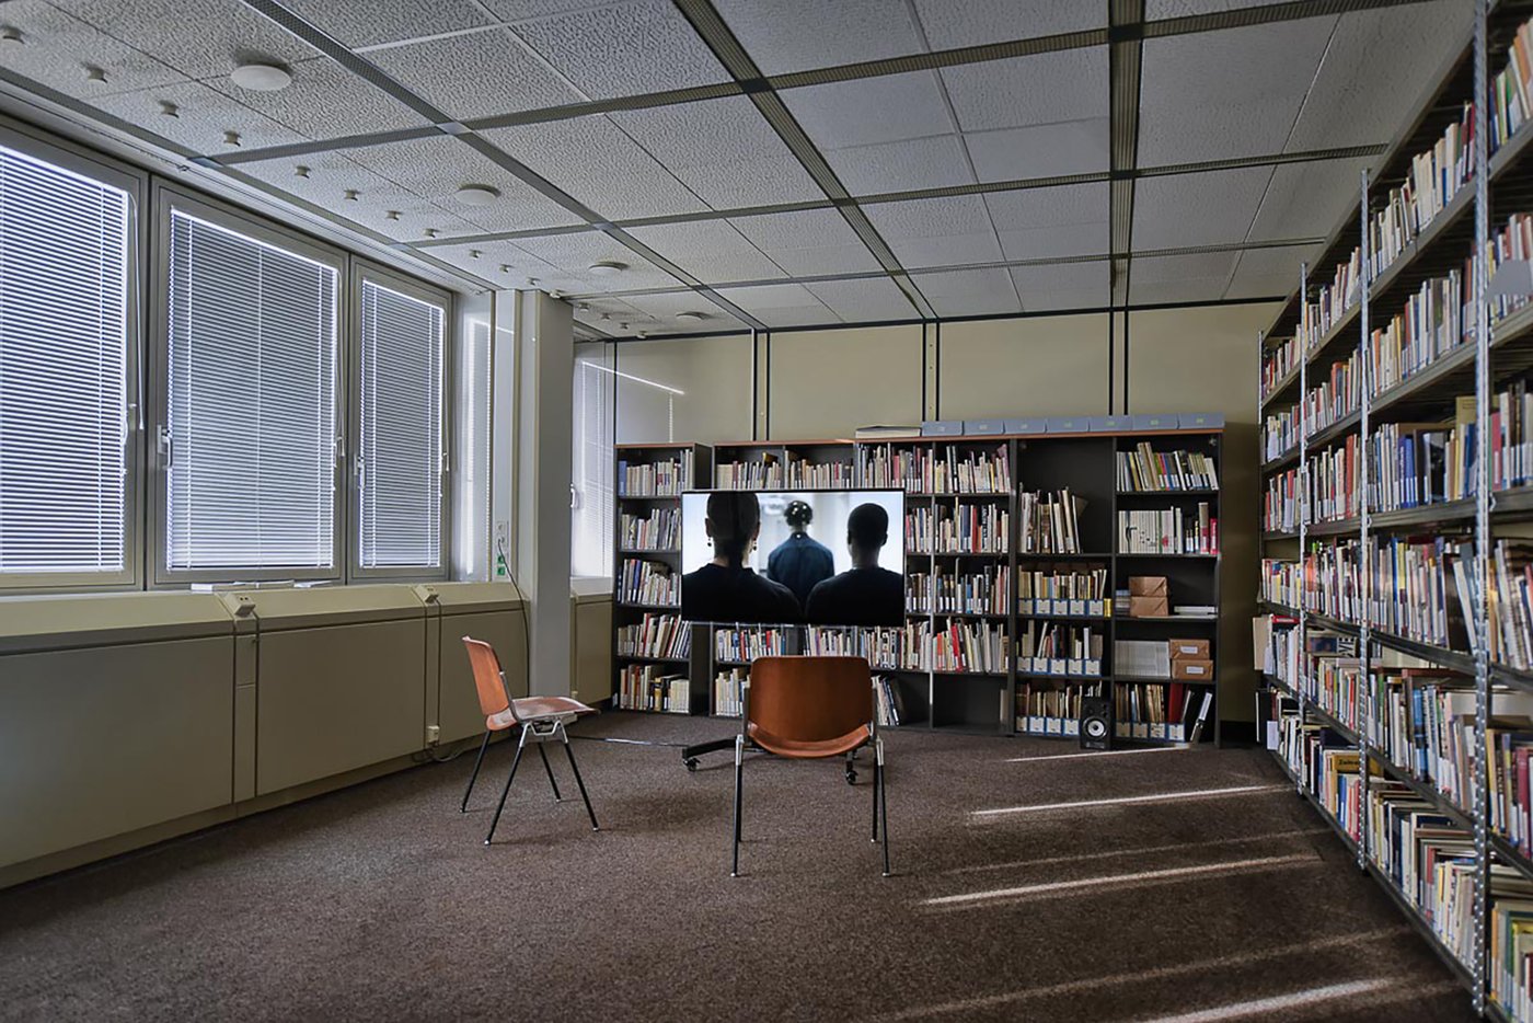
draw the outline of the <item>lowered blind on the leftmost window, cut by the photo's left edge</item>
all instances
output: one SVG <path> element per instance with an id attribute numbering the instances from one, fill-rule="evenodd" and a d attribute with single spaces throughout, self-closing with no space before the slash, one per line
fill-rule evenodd
<path id="1" fill-rule="evenodd" d="M 0 574 L 126 567 L 127 218 L 0 147 Z"/>

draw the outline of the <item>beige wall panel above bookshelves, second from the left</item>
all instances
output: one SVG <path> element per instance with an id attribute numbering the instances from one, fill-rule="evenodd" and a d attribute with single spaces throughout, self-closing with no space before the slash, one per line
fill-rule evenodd
<path id="1" fill-rule="evenodd" d="M 849 437 L 857 426 L 921 422 L 920 325 L 773 333 L 770 345 L 773 440 Z"/>

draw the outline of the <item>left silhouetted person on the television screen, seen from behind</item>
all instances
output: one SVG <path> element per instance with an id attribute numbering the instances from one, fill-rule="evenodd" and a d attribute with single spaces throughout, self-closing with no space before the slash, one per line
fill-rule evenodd
<path id="1" fill-rule="evenodd" d="M 713 543 L 713 560 L 681 577 L 682 618 L 751 624 L 791 624 L 802 620 L 793 590 L 745 567 L 745 555 L 756 546 L 762 529 L 762 509 L 754 494 L 710 494 L 705 526 Z"/>

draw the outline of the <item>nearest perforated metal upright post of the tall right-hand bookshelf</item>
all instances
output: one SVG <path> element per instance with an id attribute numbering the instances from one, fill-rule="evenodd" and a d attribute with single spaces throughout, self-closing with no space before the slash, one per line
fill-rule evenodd
<path id="1" fill-rule="evenodd" d="M 1470 761 L 1475 776 L 1470 811 L 1475 819 L 1475 926 L 1473 956 L 1475 1012 L 1484 1015 L 1489 986 L 1485 957 L 1490 926 L 1490 850 L 1485 836 L 1489 770 L 1485 765 L 1485 727 L 1490 716 L 1490 621 L 1487 584 L 1490 581 L 1490 324 L 1485 310 L 1485 244 L 1490 238 L 1489 143 L 1485 140 L 1489 74 L 1485 17 L 1489 0 L 1475 0 L 1475 742 Z"/>

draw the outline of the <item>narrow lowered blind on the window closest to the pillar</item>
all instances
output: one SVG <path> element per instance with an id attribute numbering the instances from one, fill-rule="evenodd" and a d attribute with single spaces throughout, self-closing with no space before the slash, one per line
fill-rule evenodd
<path id="1" fill-rule="evenodd" d="M 362 281 L 359 549 L 363 569 L 442 566 L 446 310 Z"/>

